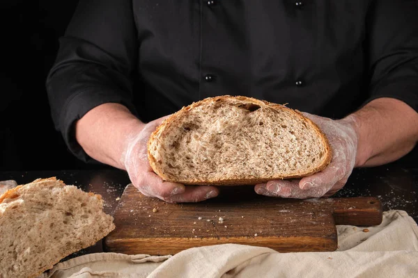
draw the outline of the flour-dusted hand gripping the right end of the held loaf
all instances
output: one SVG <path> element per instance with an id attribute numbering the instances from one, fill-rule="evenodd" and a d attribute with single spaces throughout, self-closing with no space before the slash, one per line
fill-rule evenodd
<path id="1" fill-rule="evenodd" d="M 328 197 L 343 188 L 353 172 L 357 153 L 355 117 L 331 120 L 309 113 L 302 113 L 315 122 L 327 136 L 332 160 L 324 170 L 302 179 L 268 181 L 255 186 L 256 193 L 267 196 L 307 199 Z"/>

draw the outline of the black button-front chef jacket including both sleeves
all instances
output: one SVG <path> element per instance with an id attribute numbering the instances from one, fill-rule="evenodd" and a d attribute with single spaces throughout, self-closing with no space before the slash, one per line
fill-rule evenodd
<path id="1" fill-rule="evenodd" d="M 216 95 L 340 118 L 378 97 L 418 111 L 415 0 L 80 0 L 47 93 L 56 129 L 121 103 L 148 122 Z"/>

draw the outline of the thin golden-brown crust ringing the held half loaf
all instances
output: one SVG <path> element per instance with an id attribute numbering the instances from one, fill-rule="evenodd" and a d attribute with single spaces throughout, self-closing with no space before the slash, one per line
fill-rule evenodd
<path id="1" fill-rule="evenodd" d="M 199 180 L 182 181 L 182 180 L 176 180 L 176 179 L 169 179 L 169 177 L 164 175 L 161 168 L 157 164 L 157 161 L 155 160 L 155 158 L 152 154 L 151 146 L 153 145 L 154 142 L 159 141 L 160 138 L 164 137 L 164 133 L 167 130 L 169 130 L 169 128 L 173 124 L 175 124 L 176 120 L 179 117 L 183 117 L 183 115 L 187 114 L 188 111 L 192 110 L 193 108 L 196 108 L 197 106 L 201 106 L 202 104 L 206 104 L 207 102 L 210 102 L 210 101 L 219 101 L 218 99 L 219 100 L 224 100 L 224 101 L 234 101 L 234 100 L 235 101 L 246 101 L 246 102 L 249 102 L 250 104 L 256 104 L 256 105 L 261 106 L 261 107 L 270 107 L 270 108 L 277 109 L 277 110 L 291 111 L 291 113 L 293 113 L 293 115 L 295 115 L 296 117 L 300 117 L 305 122 L 308 122 L 309 124 L 311 124 L 315 133 L 318 134 L 318 138 L 320 138 L 323 145 L 325 145 L 325 154 L 324 154 L 324 158 L 323 158 L 322 163 L 318 167 L 314 168 L 314 170 L 311 170 L 309 172 L 302 172 L 302 173 L 298 173 L 298 174 L 295 174 L 295 175 L 292 175 L 292 176 L 284 176 L 284 177 L 277 175 L 277 176 L 274 176 L 274 177 L 268 178 L 268 179 L 265 179 L 265 178 L 240 179 L 239 177 L 237 177 L 236 179 L 221 179 L 221 180 L 208 180 L 208 181 L 199 181 Z M 158 176 L 160 176 L 164 181 L 183 183 L 183 184 L 186 184 L 186 185 L 204 185 L 204 186 L 255 185 L 255 184 L 258 184 L 258 183 L 265 183 L 267 181 L 271 181 L 271 180 L 275 180 L 275 179 L 298 179 L 298 178 L 302 178 L 302 177 L 307 177 L 311 174 L 314 174 L 316 172 L 320 172 L 320 171 L 324 170 L 325 167 L 327 167 L 327 165 L 330 164 L 331 158 L 332 158 L 332 151 L 331 151 L 331 147 L 330 147 L 330 142 L 328 141 L 328 139 L 325 136 L 325 134 L 323 133 L 323 131 L 320 130 L 318 125 L 316 125 L 314 122 L 312 122 L 309 118 L 304 117 L 304 115 L 302 115 L 302 113 L 300 113 L 299 111 L 294 110 L 292 108 L 288 108 L 288 107 L 286 107 L 285 105 L 282 105 L 282 104 L 274 104 L 274 103 L 269 102 L 269 101 L 254 99 L 252 97 L 231 96 L 231 95 L 222 95 L 222 96 L 219 96 L 219 97 L 208 97 L 206 99 L 202 99 L 201 101 L 193 102 L 189 106 L 183 106 L 183 108 L 181 108 L 179 111 L 177 111 L 176 113 L 173 113 L 170 117 L 165 119 L 164 122 L 162 122 L 162 124 L 160 124 L 160 126 L 157 126 L 157 129 L 155 129 L 155 131 L 153 133 L 151 133 L 151 135 L 150 135 L 150 138 L 148 140 L 147 148 L 148 148 L 148 161 L 150 163 L 150 166 L 153 168 L 154 172 Z"/>

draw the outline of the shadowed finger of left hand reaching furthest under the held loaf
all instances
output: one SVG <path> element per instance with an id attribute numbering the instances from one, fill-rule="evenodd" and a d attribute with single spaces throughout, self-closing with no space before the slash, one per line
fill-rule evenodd
<path id="1" fill-rule="evenodd" d="M 184 193 L 171 195 L 164 198 L 166 202 L 201 202 L 206 199 L 216 197 L 219 194 L 219 188 L 215 186 L 186 186 Z"/>

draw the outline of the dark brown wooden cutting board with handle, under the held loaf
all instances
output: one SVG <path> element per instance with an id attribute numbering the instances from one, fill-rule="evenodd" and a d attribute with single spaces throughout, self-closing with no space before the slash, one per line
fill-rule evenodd
<path id="1" fill-rule="evenodd" d="M 257 195 L 254 186 L 227 186 L 205 202 L 168 204 L 130 184 L 114 212 L 116 229 L 104 239 L 104 250 L 166 255 L 237 243 L 279 252 L 334 251 L 336 224 L 381 222 L 382 205 L 374 197 L 279 199 Z"/>

